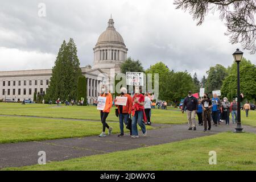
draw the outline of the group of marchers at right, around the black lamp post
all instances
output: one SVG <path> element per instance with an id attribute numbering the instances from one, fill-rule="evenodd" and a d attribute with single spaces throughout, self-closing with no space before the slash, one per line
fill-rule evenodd
<path id="1" fill-rule="evenodd" d="M 245 110 L 249 105 L 247 102 L 244 106 Z M 249 105 L 250 106 L 250 105 Z M 204 131 L 210 131 L 213 121 L 215 126 L 220 125 L 220 122 L 225 122 L 229 125 L 229 115 L 232 114 L 232 122 L 237 123 L 237 102 L 233 99 L 230 104 L 228 98 L 224 97 L 221 101 L 217 97 L 217 94 L 213 94 L 213 98 L 210 99 L 208 94 L 205 93 L 203 99 L 197 100 L 196 97 L 192 96 L 192 92 L 188 92 L 188 96 L 183 101 L 182 113 L 186 111 L 188 118 L 188 130 L 196 130 L 196 114 L 199 119 L 199 125 L 204 126 Z M 246 116 L 247 116 L 246 111 Z"/>

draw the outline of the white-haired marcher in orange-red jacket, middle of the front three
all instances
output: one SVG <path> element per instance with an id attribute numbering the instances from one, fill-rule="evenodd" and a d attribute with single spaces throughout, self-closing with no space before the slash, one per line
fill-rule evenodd
<path id="1" fill-rule="evenodd" d="M 118 115 L 119 127 L 120 127 L 120 134 L 117 137 L 123 137 L 125 135 L 123 131 L 123 122 L 125 122 L 125 125 L 127 125 L 129 115 L 131 114 L 131 107 L 133 106 L 133 100 L 131 99 L 131 96 L 127 94 L 127 89 L 125 87 L 122 87 L 120 89 L 120 92 L 121 92 L 120 97 L 127 97 L 127 102 L 125 106 L 117 105 L 118 113 L 119 113 Z"/>

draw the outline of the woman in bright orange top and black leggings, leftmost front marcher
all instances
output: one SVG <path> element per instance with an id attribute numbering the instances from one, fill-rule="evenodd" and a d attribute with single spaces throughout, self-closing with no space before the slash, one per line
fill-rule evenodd
<path id="1" fill-rule="evenodd" d="M 108 91 L 108 86 L 102 85 L 101 86 L 101 97 L 106 97 L 106 104 L 104 110 L 101 110 L 101 123 L 102 123 L 102 133 L 99 137 L 106 137 L 105 130 L 106 128 L 109 130 L 109 135 L 112 133 L 112 127 L 109 127 L 108 123 L 106 123 L 106 118 L 110 113 L 110 109 L 112 107 L 112 94 Z"/>

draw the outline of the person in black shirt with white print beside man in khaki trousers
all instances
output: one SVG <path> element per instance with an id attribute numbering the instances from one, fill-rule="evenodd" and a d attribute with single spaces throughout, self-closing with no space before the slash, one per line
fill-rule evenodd
<path id="1" fill-rule="evenodd" d="M 207 93 L 204 94 L 204 99 L 201 101 L 203 106 L 203 118 L 204 118 L 204 131 L 207 131 L 207 123 L 208 123 L 208 131 L 210 131 L 211 125 L 211 108 L 212 108 L 212 101 L 210 100 Z"/>

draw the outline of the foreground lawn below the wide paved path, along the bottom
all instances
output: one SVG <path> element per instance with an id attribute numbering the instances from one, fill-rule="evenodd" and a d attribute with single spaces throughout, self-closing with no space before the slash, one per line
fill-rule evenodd
<path id="1" fill-rule="evenodd" d="M 256 170 L 256 134 L 220 133 L 135 150 L 3 170 Z M 217 165 L 209 165 L 209 151 Z"/>

